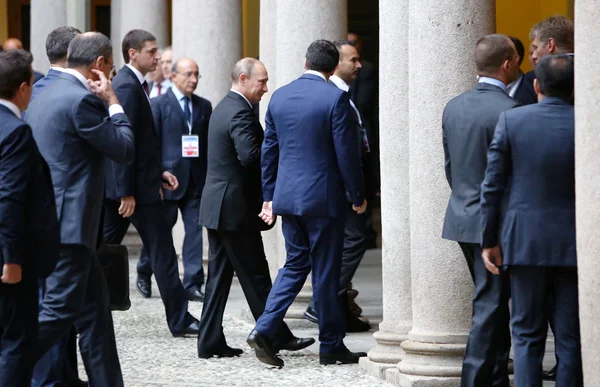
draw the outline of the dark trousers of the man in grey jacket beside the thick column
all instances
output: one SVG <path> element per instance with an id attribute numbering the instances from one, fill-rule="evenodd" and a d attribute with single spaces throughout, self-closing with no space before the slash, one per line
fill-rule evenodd
<path id="1" fill-rule="evenodd" d="M 481 247 L 460 243 L 470 254 L 475 276 L 473 316 L 461 374 L 461 387 L 508 387 L 510 327 L 508 300 L 510 279 L 507 273 L 496 276 L 487 271 Z"/>

